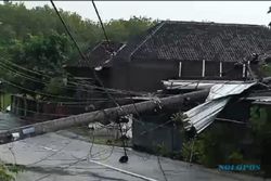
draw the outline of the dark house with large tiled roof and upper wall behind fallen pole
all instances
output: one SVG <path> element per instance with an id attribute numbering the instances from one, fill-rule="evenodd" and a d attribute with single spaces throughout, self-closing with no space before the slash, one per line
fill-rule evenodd
<path id="1" fill-rule="evenodd" d="M 162 80 L 245 80 L 249 64 L 271 50 L 271 31 L 259 25 L 162 22 L 126 44 L 105 42 L 67 69 L 91 77 L 95 68 L 108 88 L 154 92 Z M 111 55 L 111 56 L 109 56 Z M 103 68 L 102 68 L 103 67 Z"/>

